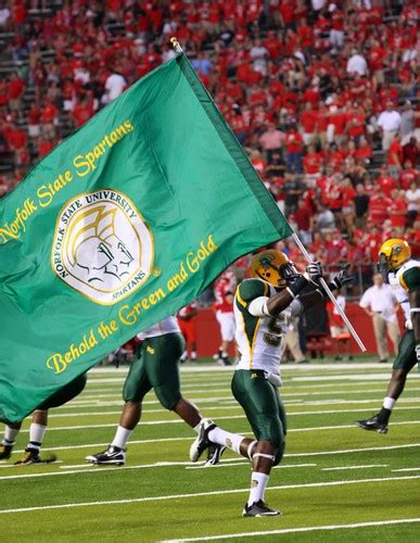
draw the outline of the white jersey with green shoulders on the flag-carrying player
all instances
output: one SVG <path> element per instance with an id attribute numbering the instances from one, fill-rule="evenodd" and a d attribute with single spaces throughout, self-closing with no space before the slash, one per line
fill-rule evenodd
<path id="1" fill-rule="evenodd" d="M 251 282 L 253 282 L 252 286 Z M 241 293 L 245 290 L 247 291 L 246 300 Z M 255 291 L 255 295 L 250 294 L 252 290 Z M 269 298 L 276 293 L 276 289 L 270 283 L 259 279 L 242 281 L 238 287 L 234 319 L 236 340 L 241 357 L 237 369 L 263 369 L 270 374 L 280 374 L 280 359 L 285 348 L 284 338 L 293 320 L 291 307 L 287 307 L 277 317 L 254 317 L 246 308 L 253 299 L 262 295 Z"/>

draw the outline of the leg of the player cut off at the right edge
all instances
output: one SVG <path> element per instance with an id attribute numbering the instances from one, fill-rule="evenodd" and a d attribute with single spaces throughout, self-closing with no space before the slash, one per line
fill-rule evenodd
<path id="1" fill-rule="evenodd" d="M 373 417 L 357 420 L 356 424 L 364 430 L 374 430 L 379 433 L 387 432 L 387 424 L 396 401 L 403 393 L 407 375 L 417 364 L 415 352 L 416 341 L 412 330 L 407 330 L 398 345 L 398 354 L 393 365 L 391 380 L 381 411 Z"/>

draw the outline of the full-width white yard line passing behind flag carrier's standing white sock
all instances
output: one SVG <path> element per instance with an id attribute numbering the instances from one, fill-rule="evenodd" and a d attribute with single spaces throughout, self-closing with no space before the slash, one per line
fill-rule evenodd
<path id="1" fill-rule="evenodd" d="M 381 483 L 389 481 L 407 481 L 420 479 L 419 476 L 402 476 L 402 477 L 384 477 L 380 479 L 355 479 L 349 481 L 329 481 L 329 482 L 313 482 L 305 484 L 283 484 L 280 487 L 270 487 L 270 491 L 273 490 L 294 490 L 294 489 L 315 489 L 320 487 L 340 487 L 347 484 L 366 484 L 366 483 Z M 88 507 L 88 506 L 102 506 L 102 505 L 117 505 L 117 504 L 130 504 L 140 502 L 161 502 L 161 501 L 174 501 L 182 500 L 188 497 L 206 497 L 206 496 L 218 496 L 220 494 L 240 494 L 249 492 L 250 489 L 232 489 L 232 490 L 218 490 L 212 492 L 195 492 L 189 494 L 175 494 L 175 495 L 163 495 L 163 496 L 148 496 L 148 497 L 132 497 L 127 500 L 106 500 L 98 502 L 82 502 L 82 503 L 67 503 L 67 504 L 51 504 L 51 505 L 39 505 L 35 507 L 18 507 L 14 509 L 2 509 L 0 514 L 9 513 L 28 513 L 34 510 L 51 510 L 51 509 L 66 509 L 72 507 Z M 418 521 L 418 519 L 416 519 Z"/>

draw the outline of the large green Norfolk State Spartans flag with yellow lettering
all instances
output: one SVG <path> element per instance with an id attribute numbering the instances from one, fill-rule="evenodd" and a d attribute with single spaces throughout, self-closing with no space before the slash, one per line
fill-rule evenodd
<path id="1" fill-rule="evenodd" d="M 0 418 L 290 233 L 187 58 L 163 64 L 0 201 Z"/>

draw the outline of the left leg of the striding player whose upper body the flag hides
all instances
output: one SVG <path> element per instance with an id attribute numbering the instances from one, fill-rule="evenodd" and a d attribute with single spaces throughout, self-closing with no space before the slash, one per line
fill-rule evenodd
<path id="1" fill-rule="evenodd" d="M 123 399 L 125 404 L 112 442 L 105 451 L 88 455 L 86 457 L 87 462 L 99 465 L 124 465 L 126 460 L 126 445 L 141 417 L 141 402 L 152 389 L 145 370 L 144 353 L 148 342 L 149 340 L 143 342 L 140 357 L 131 363 L 124 382 Z"/>

